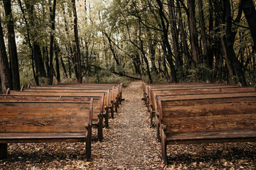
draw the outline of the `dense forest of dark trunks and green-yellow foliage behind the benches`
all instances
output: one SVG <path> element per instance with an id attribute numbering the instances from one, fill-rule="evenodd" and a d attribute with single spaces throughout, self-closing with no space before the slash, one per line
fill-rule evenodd
<path id="1" fill-rule="evenodd" d="M 70 82 L 256 81 L 255 0 L 2 0 L 1 91 Z"/>

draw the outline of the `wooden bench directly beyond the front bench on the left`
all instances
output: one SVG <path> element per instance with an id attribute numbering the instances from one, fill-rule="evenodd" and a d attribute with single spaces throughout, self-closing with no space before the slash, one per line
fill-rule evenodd
<path id="1" fill-rule="evenodd" d="M 92 128 L 97 128 L 97 139 L 103 139 L 103 108 L 104 94 L 99 96 L 43 96 L 43 95 L 0 95 L 1 101 L 90 101 L 93 98 Z"/>

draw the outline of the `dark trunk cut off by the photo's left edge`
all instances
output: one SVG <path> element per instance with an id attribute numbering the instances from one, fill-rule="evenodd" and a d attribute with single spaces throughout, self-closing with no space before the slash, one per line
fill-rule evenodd
<path id="1" fill-rule="evenodd" d="M 6 54 L 6 47 L 4 43 L 4 33 L 1 27 L 1 15 L 0 15 L 0 82 L 1 92 L 6 93 L 6 90 L 11 87 L 11 74 L 9 69 L 8 58 Z"/>

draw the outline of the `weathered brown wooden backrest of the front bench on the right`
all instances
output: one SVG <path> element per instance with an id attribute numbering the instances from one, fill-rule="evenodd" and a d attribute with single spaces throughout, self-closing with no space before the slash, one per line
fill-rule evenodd
<path id="1" fill-rule="evenodd" d="M 162 99 L 159 118 L 166 133 L 256 130 L 256 95 Z"/>

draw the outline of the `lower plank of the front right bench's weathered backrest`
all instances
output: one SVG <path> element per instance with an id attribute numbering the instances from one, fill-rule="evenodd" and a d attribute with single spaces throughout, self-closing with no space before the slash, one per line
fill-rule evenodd
<path id="1" fill-rule="evenodd" d="M 255 129 L 256 116 L 242 115 L 212 115 L 182 118 L 164 118 L 166 133 L 171 132 L 206 132 L 221 130 Z"/>

